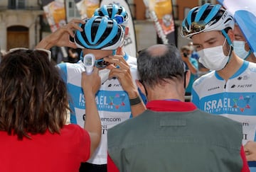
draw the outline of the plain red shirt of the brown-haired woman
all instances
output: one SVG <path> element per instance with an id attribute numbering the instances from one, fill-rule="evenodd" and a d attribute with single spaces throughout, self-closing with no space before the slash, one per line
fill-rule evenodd
<path id="1" fill-rule="evenodd" d="M 36 134 L 32 139 L 0 131 L 0 171 L 74 172 L 90 157 L 90 136 L 78 125 L 65 125 L 60 134 Z"/>

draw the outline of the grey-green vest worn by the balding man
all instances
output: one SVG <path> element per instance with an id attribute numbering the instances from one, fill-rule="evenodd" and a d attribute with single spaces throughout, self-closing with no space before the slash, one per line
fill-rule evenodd
<path id="1" fill-rule="evenodd" d="M 241 130 L 238 122 L 201 110 L 146 110 L 110 129 L 108 151 L 119 171 L 241 171 Z"/>

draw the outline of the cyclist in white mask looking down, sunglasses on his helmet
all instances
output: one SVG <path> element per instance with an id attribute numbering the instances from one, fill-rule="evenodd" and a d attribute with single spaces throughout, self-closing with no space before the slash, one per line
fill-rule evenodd
<path id="1" fill-rule="evenodd" d="M 255 161 L 247 141 L 255 141 L 256 64 L 233 51 L 234 25 L 233 16 L 222 6 L 204 4 L 188 12 L 181 35 L 193 40 L 199 62 L 213 70 L 193 83 L 192 102 L 208 113 L 242 122 L 247 161 Z"/>

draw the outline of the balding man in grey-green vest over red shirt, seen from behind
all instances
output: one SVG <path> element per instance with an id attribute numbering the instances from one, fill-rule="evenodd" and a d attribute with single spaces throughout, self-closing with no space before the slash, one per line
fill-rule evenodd
<path id="1" fill-rule="evenodd" d="M 242 125 L 184 102 L 190 71 L 174 45 L 142 50 L 137 64 L 147 110 L 108 130 L 108 170 L 246 171 Z"/>

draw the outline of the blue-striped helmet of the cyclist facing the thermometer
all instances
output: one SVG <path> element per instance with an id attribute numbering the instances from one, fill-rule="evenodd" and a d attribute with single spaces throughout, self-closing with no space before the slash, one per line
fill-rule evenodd
<path id="1" fill-rule="evenodd" d="M 124 30 L 117 21 L 105 16 L 93 16 L 80 24 L 82 31 L 75 32 L 78 48 L 94 50 L 116 50 L 124 45 Z"/>

